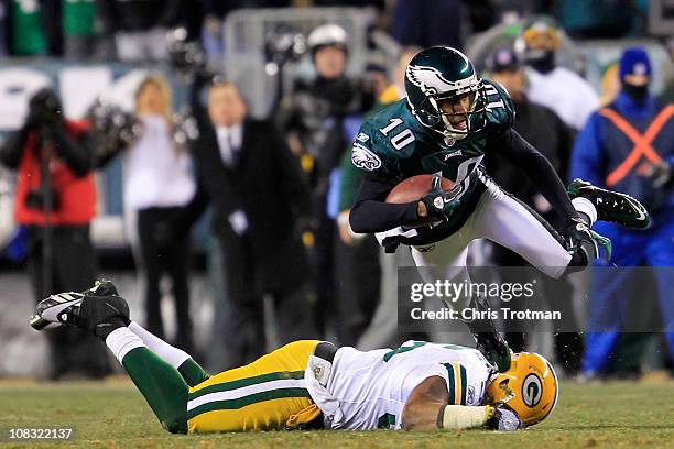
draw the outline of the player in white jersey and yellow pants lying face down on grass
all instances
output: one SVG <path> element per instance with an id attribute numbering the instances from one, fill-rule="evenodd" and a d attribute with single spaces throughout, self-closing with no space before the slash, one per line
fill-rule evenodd
<path id="1" fill-rule="evenodd" d="M 497 373 L 478 350 L 422 341 L 368 352 L 294 341 L 209 375 L 189 354 L 131 321 L 110 282 L 52 295 L 31 318 L 37 330 L 63 325 L 105 341 L 171 432 L 517 430 L 540 423 L 557 402 L 557 377 L 539 354 L 513 354 L 510 370 Z"/>

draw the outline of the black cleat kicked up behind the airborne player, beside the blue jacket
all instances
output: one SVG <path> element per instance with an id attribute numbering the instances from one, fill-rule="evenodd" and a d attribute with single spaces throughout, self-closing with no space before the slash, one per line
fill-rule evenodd
<path id="1" fill-rule="evenodd" d="M 629 195 L 599 188 L 578 178 L 568 185 L 567 190 L 572 199 L 577 197 L 589 199 L 597 209 L 598 220 L 634 229 L 644 229 L 651 223 L 645 207 Z"/>

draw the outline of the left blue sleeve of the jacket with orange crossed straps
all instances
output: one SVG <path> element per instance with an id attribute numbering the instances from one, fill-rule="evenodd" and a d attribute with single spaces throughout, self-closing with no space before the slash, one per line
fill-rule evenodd
<path id="1" fill-rule="evenodd" d="M 570 176 L 604 186 L 602 145 L 599 134 L 599 116 L 594 114 L 578 134 L 572 151 Z"/>

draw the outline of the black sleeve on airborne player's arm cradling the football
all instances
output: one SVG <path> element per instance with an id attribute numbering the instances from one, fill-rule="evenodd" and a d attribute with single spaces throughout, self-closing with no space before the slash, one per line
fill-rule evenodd
<path id="1" fill-rule="evenodd" d="M 394 184 L 366 175 L 349 213 L 349 223 L 354 232 L 372 233 L 388 231 L 418 219 L 418 201 L 404 204 L 384 202 Z"/>

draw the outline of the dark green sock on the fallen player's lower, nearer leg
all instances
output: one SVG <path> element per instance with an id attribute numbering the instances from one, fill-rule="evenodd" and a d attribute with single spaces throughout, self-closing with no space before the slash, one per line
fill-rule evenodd
<path id="1" fill-rule="evenodd" d="M 129 351 L 122 365 L 162 426 L 172 434 L 186 434 L 189 388 L 181 373 L 148 348 Z"/>

